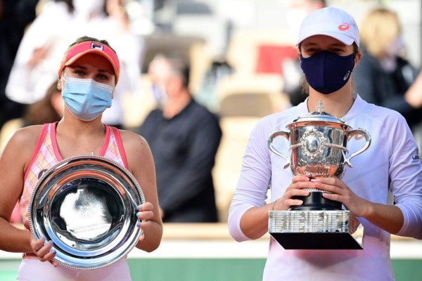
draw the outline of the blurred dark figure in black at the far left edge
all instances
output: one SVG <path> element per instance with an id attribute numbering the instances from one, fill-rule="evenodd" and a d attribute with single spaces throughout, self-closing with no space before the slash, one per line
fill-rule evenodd
<path id="1" fill-rule="evenodd" d="M 20 117 L 25 106 L 6 97 L 8 76 L 25 28 L 35 18 L 38 0 L 0 0 L 0 129 Z"/>

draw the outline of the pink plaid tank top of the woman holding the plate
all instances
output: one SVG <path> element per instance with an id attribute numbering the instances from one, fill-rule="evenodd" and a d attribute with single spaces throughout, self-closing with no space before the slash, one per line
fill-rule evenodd
<path id="1" fill-rule="evenodd" d="M 37 181 L 45 171 L 62 161 L 56 141 L 56 123 L 44 124 L 39 135 L 37 145 L 25 171 L 23 192 L 19 199 L 20 213 L 24 220 L 28 219 L 28 203 Z M 106 138 L 101 147 L 100 156 L 108 157 L 127 168 L 126 155 L 124 154 L 120 133 L 115 127 L 104 125 Z"/>

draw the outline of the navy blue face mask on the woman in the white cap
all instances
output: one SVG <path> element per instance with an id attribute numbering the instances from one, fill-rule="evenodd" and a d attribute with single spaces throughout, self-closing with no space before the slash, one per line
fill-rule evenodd
<path id="1" fill-rule="evenodd" d="M 320 51 L 309 58 L 300 55 L 300 67 L 306 81 L 319 93 L 333 93 L 349 81 L 354 67 L 355 54 L 337 55 L 330 51 Z"/>

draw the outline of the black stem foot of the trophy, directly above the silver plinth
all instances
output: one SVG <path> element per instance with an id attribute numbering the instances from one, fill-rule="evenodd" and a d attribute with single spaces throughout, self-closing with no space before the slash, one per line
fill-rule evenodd
<path id="1" fill-rule="evenodd" d="M 329 200 L 322 195 L 322 191 L 311 191 L 309 196 L 295 196 L 293 199 L 302 200 L 303 204 L 299 206 L 292 206 L 292 211 L 337 211 L 341 210 L 341 202 Z"/>

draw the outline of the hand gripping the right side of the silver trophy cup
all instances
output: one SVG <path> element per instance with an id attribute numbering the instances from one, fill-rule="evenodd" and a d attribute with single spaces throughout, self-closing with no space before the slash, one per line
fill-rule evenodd
<path id="1" fill-rule="evenodd" d="M 323 197 L 341 202 L 354 216 L 364 216 L 368 201 L 357 196 L 339 178 L 317 177 L 312 182 L 312 188 L 318 188 L 331 193 L 323 193 Z"/>

